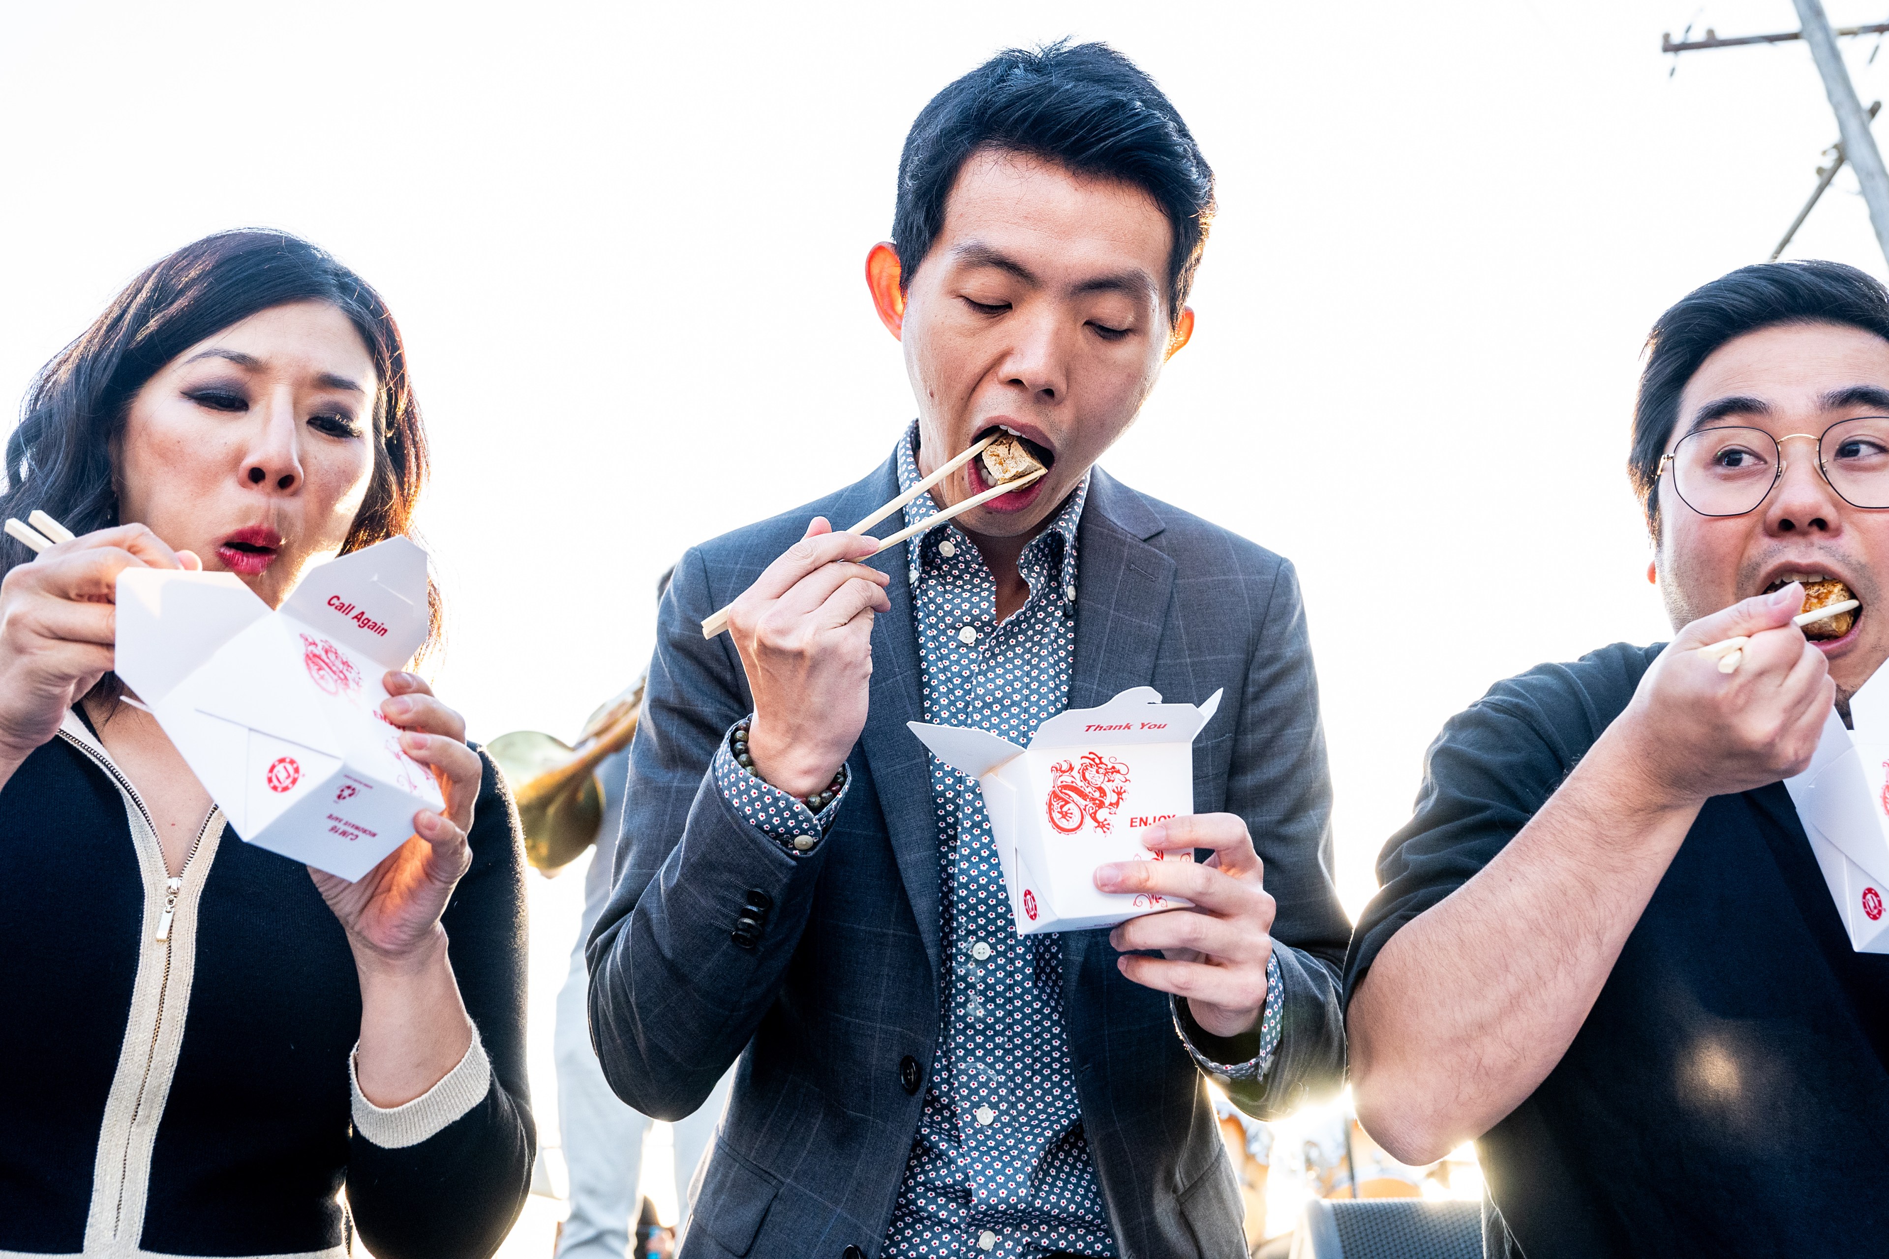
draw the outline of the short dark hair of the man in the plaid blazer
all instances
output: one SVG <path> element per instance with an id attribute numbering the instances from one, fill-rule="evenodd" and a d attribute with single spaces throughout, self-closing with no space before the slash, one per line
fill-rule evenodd
<path id="1" fill-rule="evenodd" d="M 1213 168 L 1135 62 L 1107 43 L 1064 40 L 997 53 L 933 96 L 899 155 L 892 243 L 901 287 L 910 287 L 931 253 L 958 172 L 980 149 L 1028 153 L 1147 191 L 1173 227 L 1167 317 L 1181 319 L 1213 221 Z"/>

